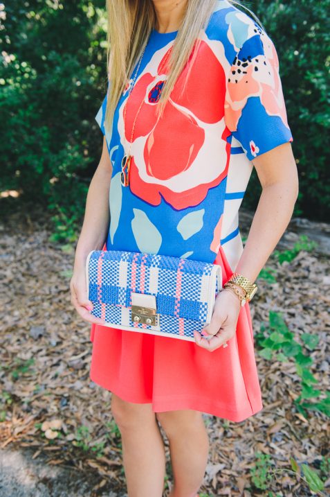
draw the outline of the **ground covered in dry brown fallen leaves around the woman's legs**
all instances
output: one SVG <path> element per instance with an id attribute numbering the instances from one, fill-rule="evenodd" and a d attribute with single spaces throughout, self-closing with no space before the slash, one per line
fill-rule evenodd
<path id="1" fill-rule="evenodd" d="M 249 220 L 250 215 L 242 213 L 243 235 L 248 233 Z M 293 247 L 297 225 L 293 220 L 295 228 L 288 227 L 278 249 Z M 327 225 L 311 226 L 315 234 L 329 233 Z M 89 475 L 89 484 L 84 481 L 76 494 L 68 489 L 67 494 L 38 495 L 122 497 L 125 475 L 120 433 L 111 415 L 111 392 L 89 378 L 89 324 L 70 304 L 73 245 L 60 247 L 48 241 L 51 222 L 38 209 L 6 214 L 0 229 L 1 450 L 19 450 L 22 455 L 32 450 L 32 460 L 37 463 L 39 458 L 49 472 L 54 467 L 57 471 L 71 467 L 70 478 L 77 480 L 77 488 L 80 478 Z M 258 281 L 259 291 L 250 305 L 254 333 L 268 323 L 269 311 L 277 311 L 297 342 L 303 343 L 304 333 L 318 335 L 318 345 L 309 354 L 316 387 L 324 392 L 322 399 L 329 392 L 329 257 L 318 250 L 301 251 L 282 265 L 272 256 L 266 267 L 276 271 L 276 281 Z M 264 409 L 241 423 L 203 414 L 211 448 L 199 495 L 317 495 L 293 471 L 291 458 L 301 476 L 304 463 L 316 471 L 324 485 L 319 495 L 328 495 L 330 478 L 324 464 L 330 457 L 329 417 L 318 410 L 308 410 L 306 416 L 298 412 L 294 401 L 301 393 L 301 380 L 293 359 L 268 360 L 259 355 L 257 344 L 255 356 Z M 169 444 L 163 435 L 167 496 L 172 473 Z M 64 478 L 60 471 L 58 478 L 61 474 Z M 22 490 L 15 495 L 30 494 Z"/>

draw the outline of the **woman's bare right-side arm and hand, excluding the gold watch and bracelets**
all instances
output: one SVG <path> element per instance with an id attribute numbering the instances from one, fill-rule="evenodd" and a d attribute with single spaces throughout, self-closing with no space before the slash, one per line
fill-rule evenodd
<path id="1" fill-rule="evenodd" d="M 255 216 L 236 272 L 255 281 L 284 233 L 293 213 L 298 194 L 298 175 L 291 143 L 283 143 L 253 160 L 262 184 Z M 235 334 L 241 304 L 230 288 L 217 295 L 212 320 L 205 326 L 201 338 L 194 333 L 196 343 L 213 351 Z M 214 336 L 216 335 L 216 336 Z"/>

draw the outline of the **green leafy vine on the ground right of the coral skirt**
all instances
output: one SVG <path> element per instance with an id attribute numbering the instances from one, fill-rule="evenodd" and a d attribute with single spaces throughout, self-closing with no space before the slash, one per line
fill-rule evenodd
<path id="1" fill-rule="evenodd" d="M 301 383 L 300 395 L 295 399 L 297 410 L 305 417 L 306 410 L 319 410 L 330 417 L 330 392 L 324 393 L 315 388 L 318 380 L 311 372 L 313 359 L 309 351 L 315 350 L 318 346 L 319 335 L 303 333 L 301 335 L 303 345 L 300 345 L 294 337 L 294 333 L 288 330 L 282 314 L 270 311 L 268 326 L 262 326 L 260 333 L 256 335 L 256 343 L 260 348 L 258 353 L 266 360 L 283 362 L 293 358 Z M 304 354 L 304 349 L 307 354 Z M 318 401 L 306 401 L 314 398 L 318 398 Z"/>

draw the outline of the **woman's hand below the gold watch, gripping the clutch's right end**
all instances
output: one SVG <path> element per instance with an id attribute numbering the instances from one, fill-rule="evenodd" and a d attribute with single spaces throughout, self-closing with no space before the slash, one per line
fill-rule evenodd
<path id="1" fill-rule="evenodd" d="M 239 297 L 230 288 L 221 290 L 215 299 L 211 322 L 201 332 L 212 338 L 203 338 L 199 331 L 194 331 L 196 344 L 210 352 L 222 347 L 236 333 L 240 310 Z"/>

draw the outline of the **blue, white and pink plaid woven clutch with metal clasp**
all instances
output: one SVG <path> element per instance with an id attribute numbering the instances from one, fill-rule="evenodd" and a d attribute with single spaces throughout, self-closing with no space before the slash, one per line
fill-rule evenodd
<path id="1" fill-rule="evenodd" d="M 93 250 L 86 260 L 91 314 L 107 326 L 194 339 L 210 323 L 221 266 L 174 256 Z"/>

